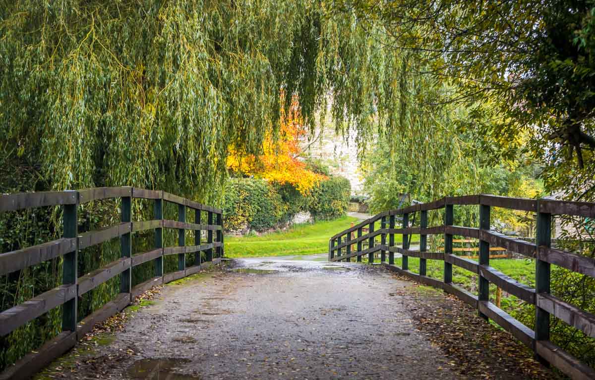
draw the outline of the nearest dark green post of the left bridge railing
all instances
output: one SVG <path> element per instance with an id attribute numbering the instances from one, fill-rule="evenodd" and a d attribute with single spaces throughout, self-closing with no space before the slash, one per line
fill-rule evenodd
<path id="1" fill-rule="evenodd" d="M 77 209 L 79 208 L 79 193 L 76 193 L 76 203 L 67 204 L 62 208 L 62 224 L 64 227 L 64 238 L 77 238 L 79 235 L 79 223 L 77 220 Z M 79 242 L 76 242 L 74 251 L 64 255 L 62 264 L 62 284 L 76 284 L 78 281 Z M 62 305 L 62 331 L 76 331 L 77 324 L 77 297 L 68 300 Z"/>

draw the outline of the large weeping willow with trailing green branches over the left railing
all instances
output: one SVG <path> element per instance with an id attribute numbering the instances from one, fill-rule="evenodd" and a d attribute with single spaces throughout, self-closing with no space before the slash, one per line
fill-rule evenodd
<path id="1" fill-rule="evenodd" d="M 330 95 L 337 129 L 375 133 L 378 105 L 392 107 L 397 62 L 376 30 L 315 0 L 0 0 L 1 190 L 131 185 L 217 203 L 228 151 L 261 153 L 292 96 L 311 128 Z M 92 223 L 79 224 L 89 229 L 117 220 L 115 203 L 85 207 Z M 2 252 L 39 243 L 49 216 L 35 226 L 29 217 L 2 216 L 2 236 L 22 232 L 2 240 Z M 82 252 L 79 270 L 116 254 Z M 36 284 L 40 273 L 47 281 Z M 55 260 L 0 278 L 2 309 L 60 283 L 60 273 Z M 117 291 L 106 283 L 80 309 Z M 55 310 L 2 337 L 0 368 L 57 334 L 59 321 Z"/>

